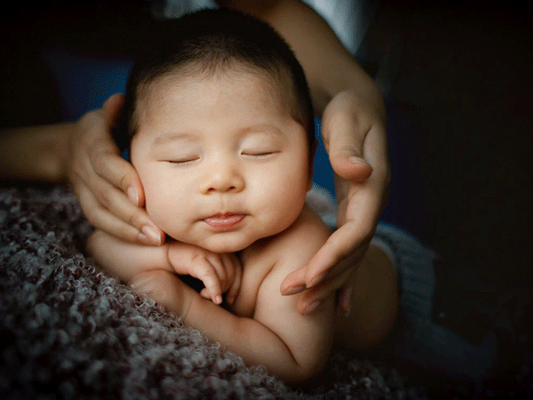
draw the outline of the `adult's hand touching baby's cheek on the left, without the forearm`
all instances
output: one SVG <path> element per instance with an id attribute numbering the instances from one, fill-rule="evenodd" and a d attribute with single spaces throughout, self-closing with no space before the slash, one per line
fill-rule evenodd
<path id="1" fill-rule="evenodd" d="M 139 244 L 160 245 L 164 233 L 150 220 L 133 166 L 119 155 L 111 130 L 123 108 L 115 94 L 80 118 L 70 139 L 68 180 L 95 228 Z"/>

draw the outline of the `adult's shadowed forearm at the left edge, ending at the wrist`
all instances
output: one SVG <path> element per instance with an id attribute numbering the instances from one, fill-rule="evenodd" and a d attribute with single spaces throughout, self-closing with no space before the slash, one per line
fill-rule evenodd
<path id="1" fill-rule="evenodd" d="M 0 180 L 66 181 L 72 129 L 65 123 L 0 132 Z"/>

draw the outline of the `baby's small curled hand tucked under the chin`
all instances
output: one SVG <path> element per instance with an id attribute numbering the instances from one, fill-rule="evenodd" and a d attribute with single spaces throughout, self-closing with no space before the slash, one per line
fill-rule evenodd
<path id="1" fill-rule="evenodd" d="M 226 301 L 233 304 L 243 276 L 243 266 L 235 253 L 216 253 L 194 244 L 179 242 L 169 244 L 169 260 L 179 275 L 190 275 L 200 279 L 205 287 L 200 295 L 215 304 Z"/>

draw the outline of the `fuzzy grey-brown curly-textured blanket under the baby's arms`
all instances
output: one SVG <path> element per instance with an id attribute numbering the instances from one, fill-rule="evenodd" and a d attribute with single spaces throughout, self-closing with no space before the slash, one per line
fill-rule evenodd
<path id="1" fill-rule="evenodd" d="M 0 398 L 426 398 L 395 372 L 330 357 L 290 388 L 209 344 L 85 257 L 68 188 L 0 188 Z"/>

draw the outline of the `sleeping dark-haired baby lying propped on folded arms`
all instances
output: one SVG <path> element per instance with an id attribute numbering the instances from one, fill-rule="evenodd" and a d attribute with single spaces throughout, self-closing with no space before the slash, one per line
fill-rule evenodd
<path id="1" fill-rule="evenodd" d="M 362 348 L 394 324 L 394 268 L 370 245 L 358 269 L 370 294 L 354 296 L 352 309 L 373 305 L 371 330 L 362 316 L 337 314 L 334 295 L 298 313 L 299 294 L 282 295 L 280 285 L 330 236 L 306 204 L 315 139 L 304 71 L 272 28 L 240 13 L 161 24 L 131 70 L 115 138 L 130 150 L 148 215 L 171 240 L 143 246 L 97 230 L 88 252 L 247 364 L 306 382 L 334 340 Z"/>

